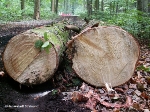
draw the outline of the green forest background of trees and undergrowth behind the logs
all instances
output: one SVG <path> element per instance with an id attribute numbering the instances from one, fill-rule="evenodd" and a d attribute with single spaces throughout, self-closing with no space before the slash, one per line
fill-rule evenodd
<path id="1" fill-rule="evenodd" d="M 140 40 L 150 37 L 150 0 L 0 0 L 0 23 L 50 20 L 60 14 L 121 26 Z"/>

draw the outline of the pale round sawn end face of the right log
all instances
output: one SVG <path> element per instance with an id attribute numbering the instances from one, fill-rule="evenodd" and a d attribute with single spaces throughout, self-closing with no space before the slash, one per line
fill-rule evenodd
<path id="1" fill-rule="evenodd" d="M 85 82 L 112 87 L 128 81 L 139 58 L 139 45 L 126 31 L 114 26 L 84 30 L 73 37 L 72 68 Z"/>

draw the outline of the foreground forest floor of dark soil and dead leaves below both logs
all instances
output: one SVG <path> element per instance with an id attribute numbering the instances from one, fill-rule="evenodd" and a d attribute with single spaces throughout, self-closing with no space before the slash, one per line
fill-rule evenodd
<path id="1" fill-rule="evenodd" d="M 132 78 L 111 92 L 78 78 L 67 55 L 52 79 L 32 87 L 20 85 L 0 68 L 0 112 L 150 112 L 150 49 L 140 48 Z"/>

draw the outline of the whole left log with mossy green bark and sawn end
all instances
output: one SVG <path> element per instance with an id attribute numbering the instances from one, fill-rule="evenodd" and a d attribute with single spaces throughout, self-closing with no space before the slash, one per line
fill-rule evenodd
<path id="1" fill-rule="evenodd" d="M 49 53 L 35 47 L 37 40 L 44 41 L 45 32 L 52 46 Z M 57 70 L 67 41 L 68 32 L 64 31 L 63 23 L 28 30 L 7 44 L 3 54 L 4 67 L 21 84 L 41 84 Z"/>

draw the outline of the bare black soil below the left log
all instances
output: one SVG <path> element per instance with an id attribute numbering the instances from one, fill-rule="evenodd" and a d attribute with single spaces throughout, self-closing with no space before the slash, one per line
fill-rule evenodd
<path id="1" fill-rule="evenodd" d="M 10 77 L 0 78 L 0 112 L 90 112 L 71 100 L 62 100 L 63 95 L 53 94 L 53 84 L 21 86 Z"/>

